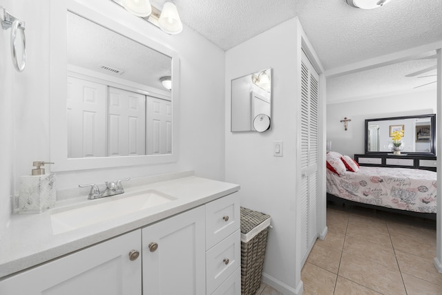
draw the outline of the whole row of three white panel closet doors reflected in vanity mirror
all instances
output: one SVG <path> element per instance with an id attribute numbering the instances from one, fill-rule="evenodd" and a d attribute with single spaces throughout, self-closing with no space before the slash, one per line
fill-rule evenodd
<path id="1" fill-rule="evenodd" d="M 68 158 L 172 153 L 167 99 L 68 76 L 67 102 Z"/>

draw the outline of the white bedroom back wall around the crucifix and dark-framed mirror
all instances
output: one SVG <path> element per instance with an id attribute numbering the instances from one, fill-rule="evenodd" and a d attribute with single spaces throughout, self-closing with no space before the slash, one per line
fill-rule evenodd
<path id="1" fill-rule="evenodd" d="M 365 119 L 433 113 L 436 113 L 434 90 L 327 104 L 327 140 L 332 140 L 332 151 L 353 157 L 355 153 L 364 153 Z M 344 117 L 352 119 L 347 131 L 340 122 Z"/>

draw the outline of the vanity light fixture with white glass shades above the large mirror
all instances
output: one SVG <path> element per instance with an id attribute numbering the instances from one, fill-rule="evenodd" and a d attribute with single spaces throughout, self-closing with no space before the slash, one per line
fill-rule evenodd
<path id="1" fill-rule="evenodd" d="M 141 17 L 170 35 L 182 31 L 182 22 L 177 7 L 172 2 L 164 3 L 163 10 L 151 6 L 149 0 L 112 0 L 128 12 Z"/>

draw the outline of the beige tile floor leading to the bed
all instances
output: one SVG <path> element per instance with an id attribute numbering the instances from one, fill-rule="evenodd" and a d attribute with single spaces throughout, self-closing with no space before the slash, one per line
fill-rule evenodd
<path id="1" fill-rule="evenodd" d="M 435 221 L 329 206 L 327 227 L 302 269 L 303 294 L 442 294 Z"/>

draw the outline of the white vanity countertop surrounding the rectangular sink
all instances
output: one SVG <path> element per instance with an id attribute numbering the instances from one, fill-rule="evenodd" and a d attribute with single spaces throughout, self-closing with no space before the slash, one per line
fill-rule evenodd
<path id="1" fill-rule="evenodd" d="M 125 194 L 133 194 L 148 189 L 161 191 L 176 200 L 61 234 L 52 234 L 52 213 L 84 203 L 106 202 L 124 194 L 97 200 L 87 200 L 84 196 L 57 202 L 55 208 L 43 213 L 13 215 L 6 234 L 0 240 L 0 278 L 198 207 L 234 193 L 240 186 L 187 176 L 130 187 L 124 191 Z"/>

